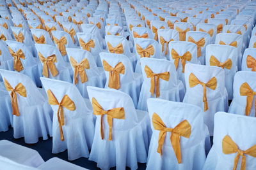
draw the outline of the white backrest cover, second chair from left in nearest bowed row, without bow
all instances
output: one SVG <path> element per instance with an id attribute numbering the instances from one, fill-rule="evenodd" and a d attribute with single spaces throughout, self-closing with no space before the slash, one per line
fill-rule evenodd
<path id="1" fill-rule="evenodd" d="M 58 100 L 58 103 L 61 102 L 61 99 L 63 99 L 65 95 L 67 95 L 74 102 L 76 106 L 76 109 L 74 111 L 67 110 L 65 107 L 63 107 L 65 121 L 84 117 L 85 114 L 88 117 L 92 116 L 92 111 L 90 111 L 84 103 L 84 99 L 81 96 L 76 85 L 68 83 L 67 81 L 53 80 L 51 78 L 42 77 L 40 78 L 40 80 L 42 81 L 45 92 L 48 93 L 48 91 L 51 90 L 52 94 L 54 94 L 54 96 Z M 54 112 L 58 111 L 58 105 L 51 105 L 51 107 Z"/>

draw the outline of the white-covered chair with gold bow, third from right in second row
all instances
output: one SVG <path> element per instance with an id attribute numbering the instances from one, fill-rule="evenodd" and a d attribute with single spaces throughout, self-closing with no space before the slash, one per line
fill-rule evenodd
<path id="1" fill-rule="evenodd" d="M 161 67 L 159 67 L 161 66 Z M 156 97 L 168 101 L 182 101 L 185 89 L 177 78 L 175 66 L 168 60 L 141 58 L 143 85 L 138 109 L 148 110 L 147 99 Z"/>

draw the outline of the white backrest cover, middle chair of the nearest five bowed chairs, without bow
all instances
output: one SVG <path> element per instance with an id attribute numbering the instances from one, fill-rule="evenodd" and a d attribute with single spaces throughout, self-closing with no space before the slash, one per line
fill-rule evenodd
<path id="1" fill-rule="evenodd" d="M 100 104 L 103 110 L 112 110 L 113 108 L 124 108 L 125 119 L 113 118 L 113 129 L 125 130 L 138 124 L 138 114 L 134 108 L 133 101 L 128 94 L 115 89 L 101 89 L 97 87 L 87 87 L 89 99 L 92 98 Z M 111 97 L 110 97 L 111 96 Z M 97 120 L 100 122 L 100 116 Z M 107 125 L 107 118 L 103 117 L 104 124 Z M 96 129 L 95 131 L 99 131 Z M 106 130 L 104 130 L 106 132 Z M 113 131 L 115 132 L 115 131 Z"/>

